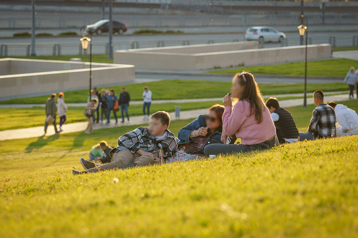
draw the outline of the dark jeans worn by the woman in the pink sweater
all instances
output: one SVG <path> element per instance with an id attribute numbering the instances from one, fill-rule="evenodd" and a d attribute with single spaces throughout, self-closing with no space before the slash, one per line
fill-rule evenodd
<path id="1" fill-rule="evenodd" d="M 212 145 L 205 146 L 204 153 L 205 155 L 209 156 L 209 155 L 219 155 L 219 154 L 227 155 L 232 153 L 249 152 L 249 151 L 256 151 L 256 150 L 266 150 L 274 147 L 275 143 L 276 143 L 276 137 L 272 138 L 271 140 L 267 140 L 262 143 L 258 143 L 254 145 L 212 144 Z"/>

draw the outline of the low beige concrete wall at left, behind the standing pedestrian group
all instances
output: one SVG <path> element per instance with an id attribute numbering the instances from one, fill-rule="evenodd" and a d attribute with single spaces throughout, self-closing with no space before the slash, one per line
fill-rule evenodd
<path id="1" fill-rule="evenodd" d="M 92 63 L 92 86 L 118 85 L 134 78 L 134 65 Z M 4 58 L 0 59 L 0 84 L 1 100 L 88 88 L 89 63 Z"/>

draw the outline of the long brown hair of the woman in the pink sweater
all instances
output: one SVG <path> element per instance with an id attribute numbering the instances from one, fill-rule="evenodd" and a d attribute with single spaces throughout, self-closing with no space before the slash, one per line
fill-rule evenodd
<path id="1" fill-rule="evenodd" d="M 244 80 L 243 76 L 245 76 L 246 80 Z M 241 73 L 237 73 L 234 80 L 236 78 L 239 80 L 239 84 L 241 86 L 245 86 L 245 91 L 242 98 L 239 98 L 239 100 L 242 101 L 246 99 L 250 103 L 250 115 L 248 115 L 248 117 L 255 113 L 256 122 L 260 124 L 262 122 L 262 112 L 265 110 L 265 106 L 262 94 L 255 81 L 255 77 L 252 74 L 243 71 Z"/>

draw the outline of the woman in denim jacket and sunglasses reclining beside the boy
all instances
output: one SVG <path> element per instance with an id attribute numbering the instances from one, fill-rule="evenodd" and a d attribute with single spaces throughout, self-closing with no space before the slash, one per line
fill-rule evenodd
<path id="1" fill-rule="evenodd" d="M 184 150 L 185 147 L 186 153 L 203 157 L 205 146 L 215 143 L 225 144 L 227 136 L 222 131 L 224 110 L 223 105 L 215 104 L 209 108 L 206 115 L 199 115 L 197 119 L 180 129 L 178 149 Z M 232 141 L 234 142 L 233 139 Z"/>

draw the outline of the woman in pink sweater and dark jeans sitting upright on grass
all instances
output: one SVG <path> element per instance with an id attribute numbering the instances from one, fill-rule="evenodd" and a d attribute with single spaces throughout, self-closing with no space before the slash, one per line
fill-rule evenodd
<path id="1" fill-rule="evenodd" d="M 232 106 L 228 93 L 223 100 L 223 132 L 236 134 L 241 144 L 213 144 L 204 148 L 205 155 L 218 155 L 264 150 L 275 146 L 276 128 L 269 109 L 265 106 L 260 89 L 252 74 L 242 72 L 232 80 L 231 93 L 238 101 Z"/>

